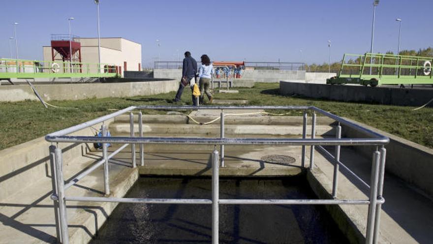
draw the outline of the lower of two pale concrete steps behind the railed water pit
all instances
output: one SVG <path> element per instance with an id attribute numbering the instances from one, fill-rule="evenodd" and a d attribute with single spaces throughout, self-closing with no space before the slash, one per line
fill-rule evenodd
<path id="1" fill-rule="evenodd" d="M 127 134 L 130 133 L 129 123 L 113 123 L 110 125 L 110 133 Z M 134 124 L 134 132 L 138 136 L 138 124 Z M 175 135 L 220 135 L 219 125 L 193 125 L 193 124 L 143 124 L 145 134 L 165 134 L 168 137 Z M 299 125 L 225 125 L 225 135 L 270 135 L 270 136 L 298 136 L 302 135 L 302 126 Z M 311 126 L 307 126 L 307 135 L 311 135 Z M 316 135 L 332 136 L 335 135 L 335 128 L 329 125 L 316 126 Z"/>

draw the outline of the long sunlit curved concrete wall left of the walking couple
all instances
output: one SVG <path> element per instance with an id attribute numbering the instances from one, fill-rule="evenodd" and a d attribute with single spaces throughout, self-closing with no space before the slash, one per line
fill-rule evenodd
<path id="1" fill-rule="evenodd" d="M 45 101 L 147 96 L 177 91 L 178 80 L 122 83 L 35 84 Z M 29 85 L 0 86 L 0 102 L 37 100 Z"/>

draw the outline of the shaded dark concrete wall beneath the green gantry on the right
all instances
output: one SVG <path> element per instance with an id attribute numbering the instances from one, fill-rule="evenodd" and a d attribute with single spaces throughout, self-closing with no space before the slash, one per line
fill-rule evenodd
<path id="1" fill-rule="evenodd" d="M 420 106 L 433 98 L 432 90 L 428 89 L 305 84 L 286 81 L 280 81 L 279 91 L 281 95 L 301 95 L 315 99 L 386 105 Z"/>

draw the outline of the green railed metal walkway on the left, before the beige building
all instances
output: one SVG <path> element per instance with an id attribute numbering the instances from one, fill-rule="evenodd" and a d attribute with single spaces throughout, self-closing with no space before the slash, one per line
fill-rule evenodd
<path id="1" fill-rule="evenodd" d="M 0 59 L 0 79 L 114 77 L 113 64 Z"/>

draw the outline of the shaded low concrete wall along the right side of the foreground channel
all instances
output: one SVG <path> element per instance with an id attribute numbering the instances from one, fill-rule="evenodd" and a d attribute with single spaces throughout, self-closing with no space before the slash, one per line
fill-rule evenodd
<path id="1" fill-rule="evenodd" d="M 371 126 L 352 121 L 362 127 L 380 133 L 390 139 L 386 148 L 385 170 L 404 181 L 415 185 L 433 196 L 433 149 L 415 142 L 399 138 Z M 366 138 L 367 135 L 342 125 L 342 134 L 347 138 Z M 372 157 L 373 146 L 355 146 L 353 149 L 367 157 Z"/>

